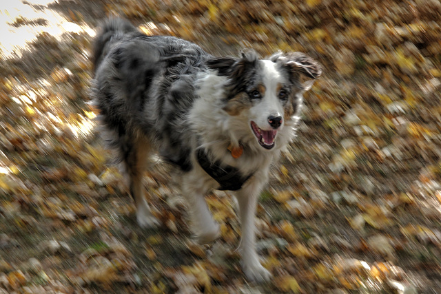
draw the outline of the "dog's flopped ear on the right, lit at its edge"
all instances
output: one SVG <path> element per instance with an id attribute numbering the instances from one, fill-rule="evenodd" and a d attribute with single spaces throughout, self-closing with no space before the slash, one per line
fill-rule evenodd
<path id="1" fill-rule="evenodd" d="M 278 52 L 269 59 L 280 64 L 282 67 L 285 67 L 291 79 L 296 83 L 298 83 L 299 74 L 304 74 L 309 78 L 313 78 L 311 81 L 302 83 L 301 86 L 303 91 L 311 89 L 314 80 L 322 74 L 322 67 L 320 64 L 302 52 L 289 52 L 287 54 Z"/>

